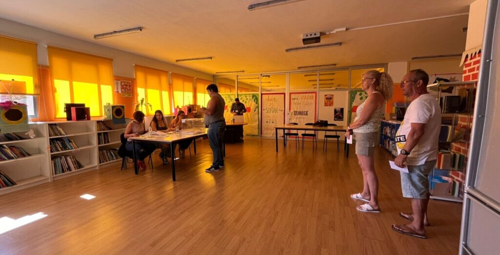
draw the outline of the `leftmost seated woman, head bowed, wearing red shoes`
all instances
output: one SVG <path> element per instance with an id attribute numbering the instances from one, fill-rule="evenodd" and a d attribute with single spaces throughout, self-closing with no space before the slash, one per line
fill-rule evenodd
<path id="1" fill-rule="evenodd" d="M 125 138 L 137 137 L 146 132 L 146 128 L 144 126 L 144 113 L 140 110 L 135 111 L 133 113 L 133 120 L 128 123 L 125 128 Z M 134 142 L 135 144 L 135 156 L 137 157 L 137 165 L 141 170 L 146 169 L 146 164 L 144 163 L 144 158 L 151 154 L 155 149 L 156 145 L 149 142 Z M 133 151 L 132 141 L 128 139 L 125 144 L 125 148 L 129 151 Z"/>

